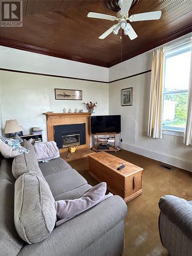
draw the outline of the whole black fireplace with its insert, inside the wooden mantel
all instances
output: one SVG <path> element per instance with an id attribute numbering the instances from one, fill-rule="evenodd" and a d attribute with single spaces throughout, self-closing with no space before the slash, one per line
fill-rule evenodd
<path id="1" fill-rule="evenodd" d="M 86 144 L 86 123 L 54 125 L 54 140 L 58 148 Z"/>

